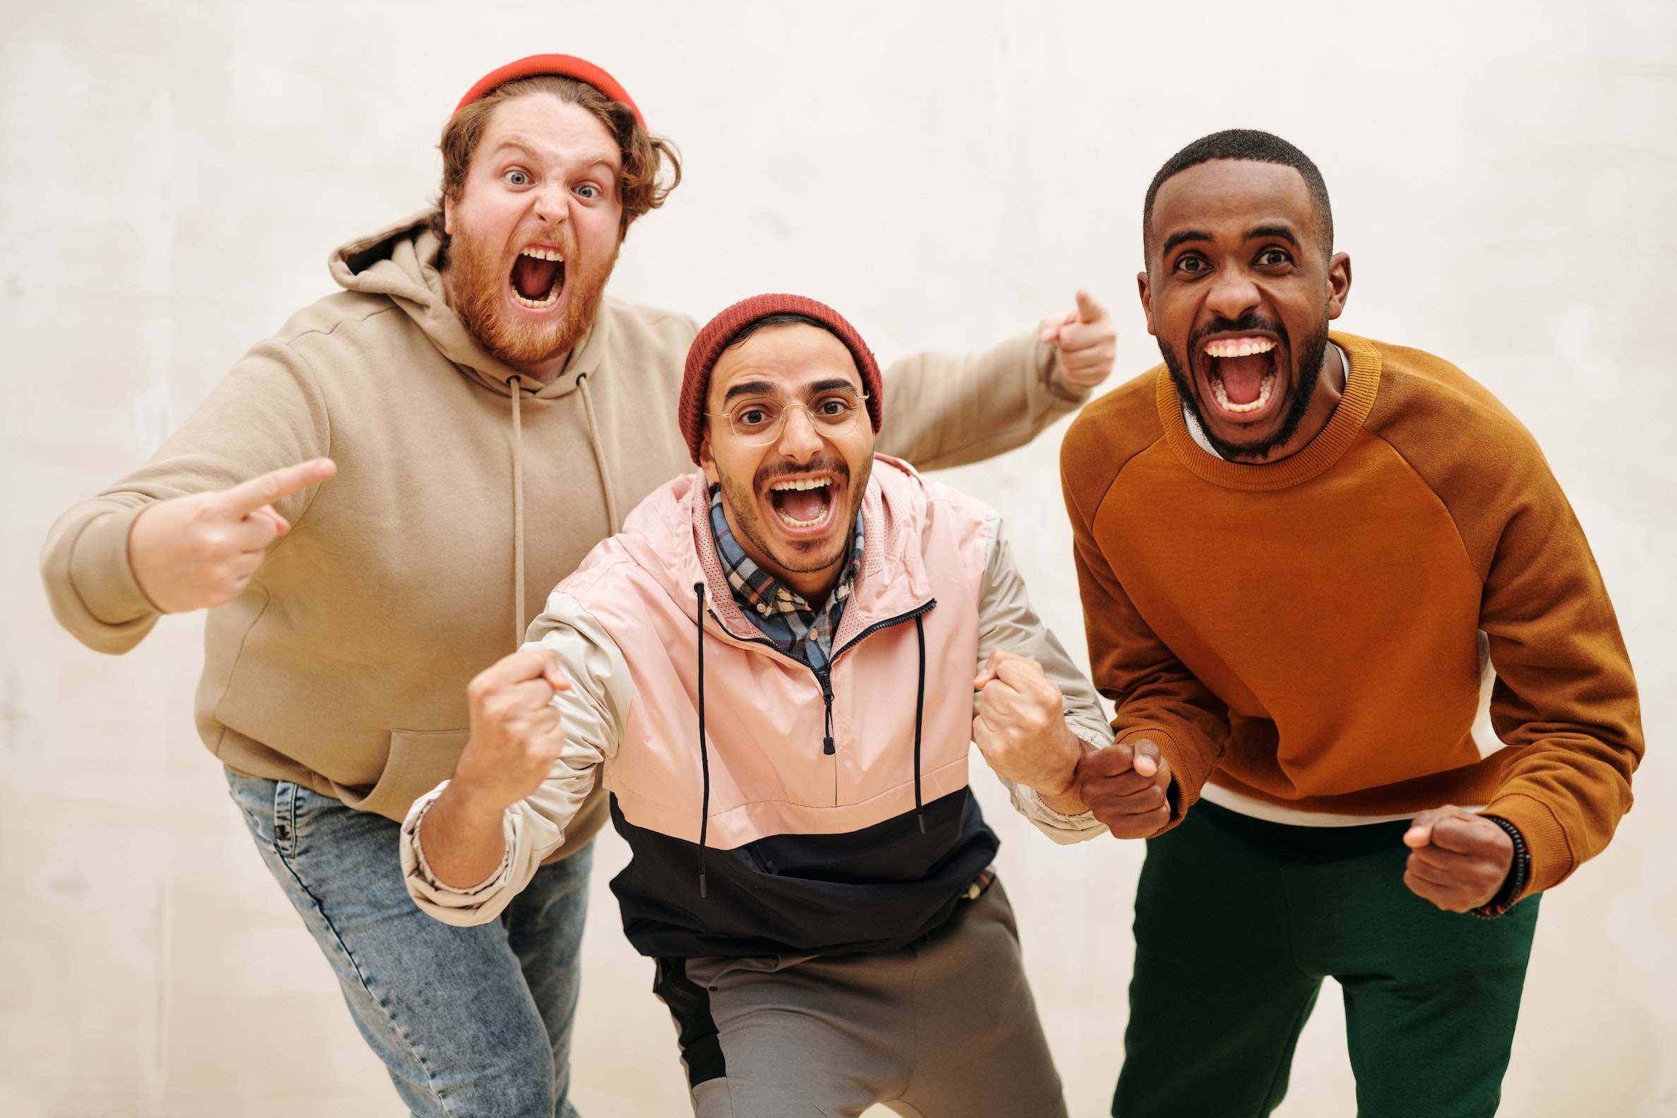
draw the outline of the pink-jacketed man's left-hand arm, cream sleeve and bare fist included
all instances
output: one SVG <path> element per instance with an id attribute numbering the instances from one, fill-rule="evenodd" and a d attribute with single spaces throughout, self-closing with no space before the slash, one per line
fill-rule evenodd
<path id="1" fill-rule="evenodd" d="M 575 598 L 548 597 L 530 637 L 471 681 L 454 774 L 402 821 L 408 895 L 443 924 L 488 924 L 530 883 L 629 719 L 629 665 Z"/>

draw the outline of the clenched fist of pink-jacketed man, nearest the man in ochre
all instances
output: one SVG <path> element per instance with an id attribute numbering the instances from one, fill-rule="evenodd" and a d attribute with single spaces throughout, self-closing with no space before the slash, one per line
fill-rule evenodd
<path id="1" fill-rule="evenodd" d="M 996 649 L 973 681 L 979 692 L 973 741 L 989 768 L 1035 788 L 1062 815 L 1082 815 L 1077 763 L 1087 746 L 1067 729 L 1060 689 L 1041 664 Z"/>

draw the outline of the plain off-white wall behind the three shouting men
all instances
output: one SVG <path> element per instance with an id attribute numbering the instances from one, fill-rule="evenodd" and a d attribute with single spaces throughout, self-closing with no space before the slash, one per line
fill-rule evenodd
<path id="1" fill-rule="evenodd" d="M 201 620 L 97 655 L 52 622 L 37 555 L 64 508 L 332 290 L 334 245 L 426 204 L 454 101 L 542 50 L 605 65 L 686 156 L 614 295 L 703 320 L 802 292 L 884 357 L 988 347 L 1083 285 L 1117 315 L 1119 384 L 1157 360 L 1134 287 L 1154 169 L 1231 126 L 1305 148 L 1355 265 L 1340 325 L 1454 360 L 1534 431 L 1643 689 L 1637 810 L 1545 900 L 1503 1113 L 1677 1115 L 1660 0 L 0 0 L 0 1113 L 401 1113 L 196 741 Z M 1060 431 L 949 478 L 1003 511 L 1082 654 Z M 1072 1113 L 1102 1115 L 1142 850 L 1057 848 L 974 783 Z M 669 1017 L 605 892 L 622 862 L 604 835 L 575 1098 L 589 1118 L 681 1115 Z M 1280 1113 L 1353 1110 L 1330 982 Z"/>

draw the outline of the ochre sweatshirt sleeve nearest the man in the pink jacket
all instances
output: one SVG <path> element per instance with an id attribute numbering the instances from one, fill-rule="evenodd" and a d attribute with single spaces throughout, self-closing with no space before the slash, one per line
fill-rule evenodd
<path id="1" fill-rule="evenodd" d="M 1171 763 L 1171 826 L 1199 800 L 1228 743 L 1228 707 L 1154 634 L 1107 562 L 1062 466 L 1095 687 L 1117 741 L 1150 738 Z"/>

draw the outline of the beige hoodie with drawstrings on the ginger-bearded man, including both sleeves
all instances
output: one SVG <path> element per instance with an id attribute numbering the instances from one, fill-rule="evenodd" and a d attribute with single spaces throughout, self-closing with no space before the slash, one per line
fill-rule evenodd
<path id="1" fill-rule="evenodd" d="M 518 647 L 620 516 L 691 469 L 676 429 L 691 318 L 605 300 L 565 372 L 515 396 L 517 370 L 443 300 L 429 216 L 332 253 L 345 290 L 253 347 L 144 466 L 60 516 L 42 553 L 59 622 L 126 652 L 158 620 L 127 565 L 149 503 L 335 459 L 335 479 L 278 503 L 292 531 L 245 593 L 210 610 L 198 732 L 238 773 L 391 820 L 453 773 L 466 682 Z M 1083 396 L 1035 337 L 909 357 L 885 370 L 879 449 L 976 461 Z M 560 855 L 604 805 L 582 815 Z"/>

